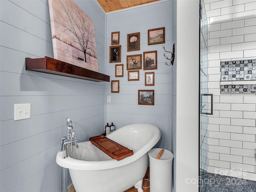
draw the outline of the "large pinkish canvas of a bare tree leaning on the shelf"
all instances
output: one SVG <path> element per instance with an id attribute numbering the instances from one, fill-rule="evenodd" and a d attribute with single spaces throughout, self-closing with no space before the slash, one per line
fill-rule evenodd
<path id="1" fill-rule="evenodd" d="M 48 0 L 54 58 L 98 72 L 93 21 L 72 0 Z"/>

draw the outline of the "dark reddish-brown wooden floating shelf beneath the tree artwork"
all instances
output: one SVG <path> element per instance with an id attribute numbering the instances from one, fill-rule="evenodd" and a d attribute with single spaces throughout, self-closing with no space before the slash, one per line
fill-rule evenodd
<path id="1" fill-rule="evenodd" d="M 26 70 L 86 79 L 97 82 L 109 82 L 109 76 L 86 68 L 72 65 L 45 56 L 44 58 L 26 58 Z"/>

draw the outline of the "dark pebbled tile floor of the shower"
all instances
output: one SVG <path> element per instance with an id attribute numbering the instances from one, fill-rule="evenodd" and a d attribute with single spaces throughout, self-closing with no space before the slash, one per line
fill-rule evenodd
<path id="1" fill-rule="evenodd" d="M 201 192 L 256 192 L 256 181 L 207 173 Z"/>

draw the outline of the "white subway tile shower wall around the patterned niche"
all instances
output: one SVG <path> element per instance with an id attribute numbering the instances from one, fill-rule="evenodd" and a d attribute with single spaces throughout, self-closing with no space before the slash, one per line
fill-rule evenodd
<path id="1" fill-rule="evenodd" d="M 256 181 L 256 94 L 219 90 L 220 62 L 256 58 L 256 0 L 204 3 L 209 21 L 208 92 L 214 94 L 214 115 L 208 115 L 208 172 Z"/>

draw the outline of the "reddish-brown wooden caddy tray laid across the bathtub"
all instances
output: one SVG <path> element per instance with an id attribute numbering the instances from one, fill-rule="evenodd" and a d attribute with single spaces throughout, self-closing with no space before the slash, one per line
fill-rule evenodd
<path id="1" fill-rule="evenodd" d="M 113 159 L 121 160 L 133 155 L 133 151 L 124 147 L 104 135 L 89 138 L 90 142 Z"/>

